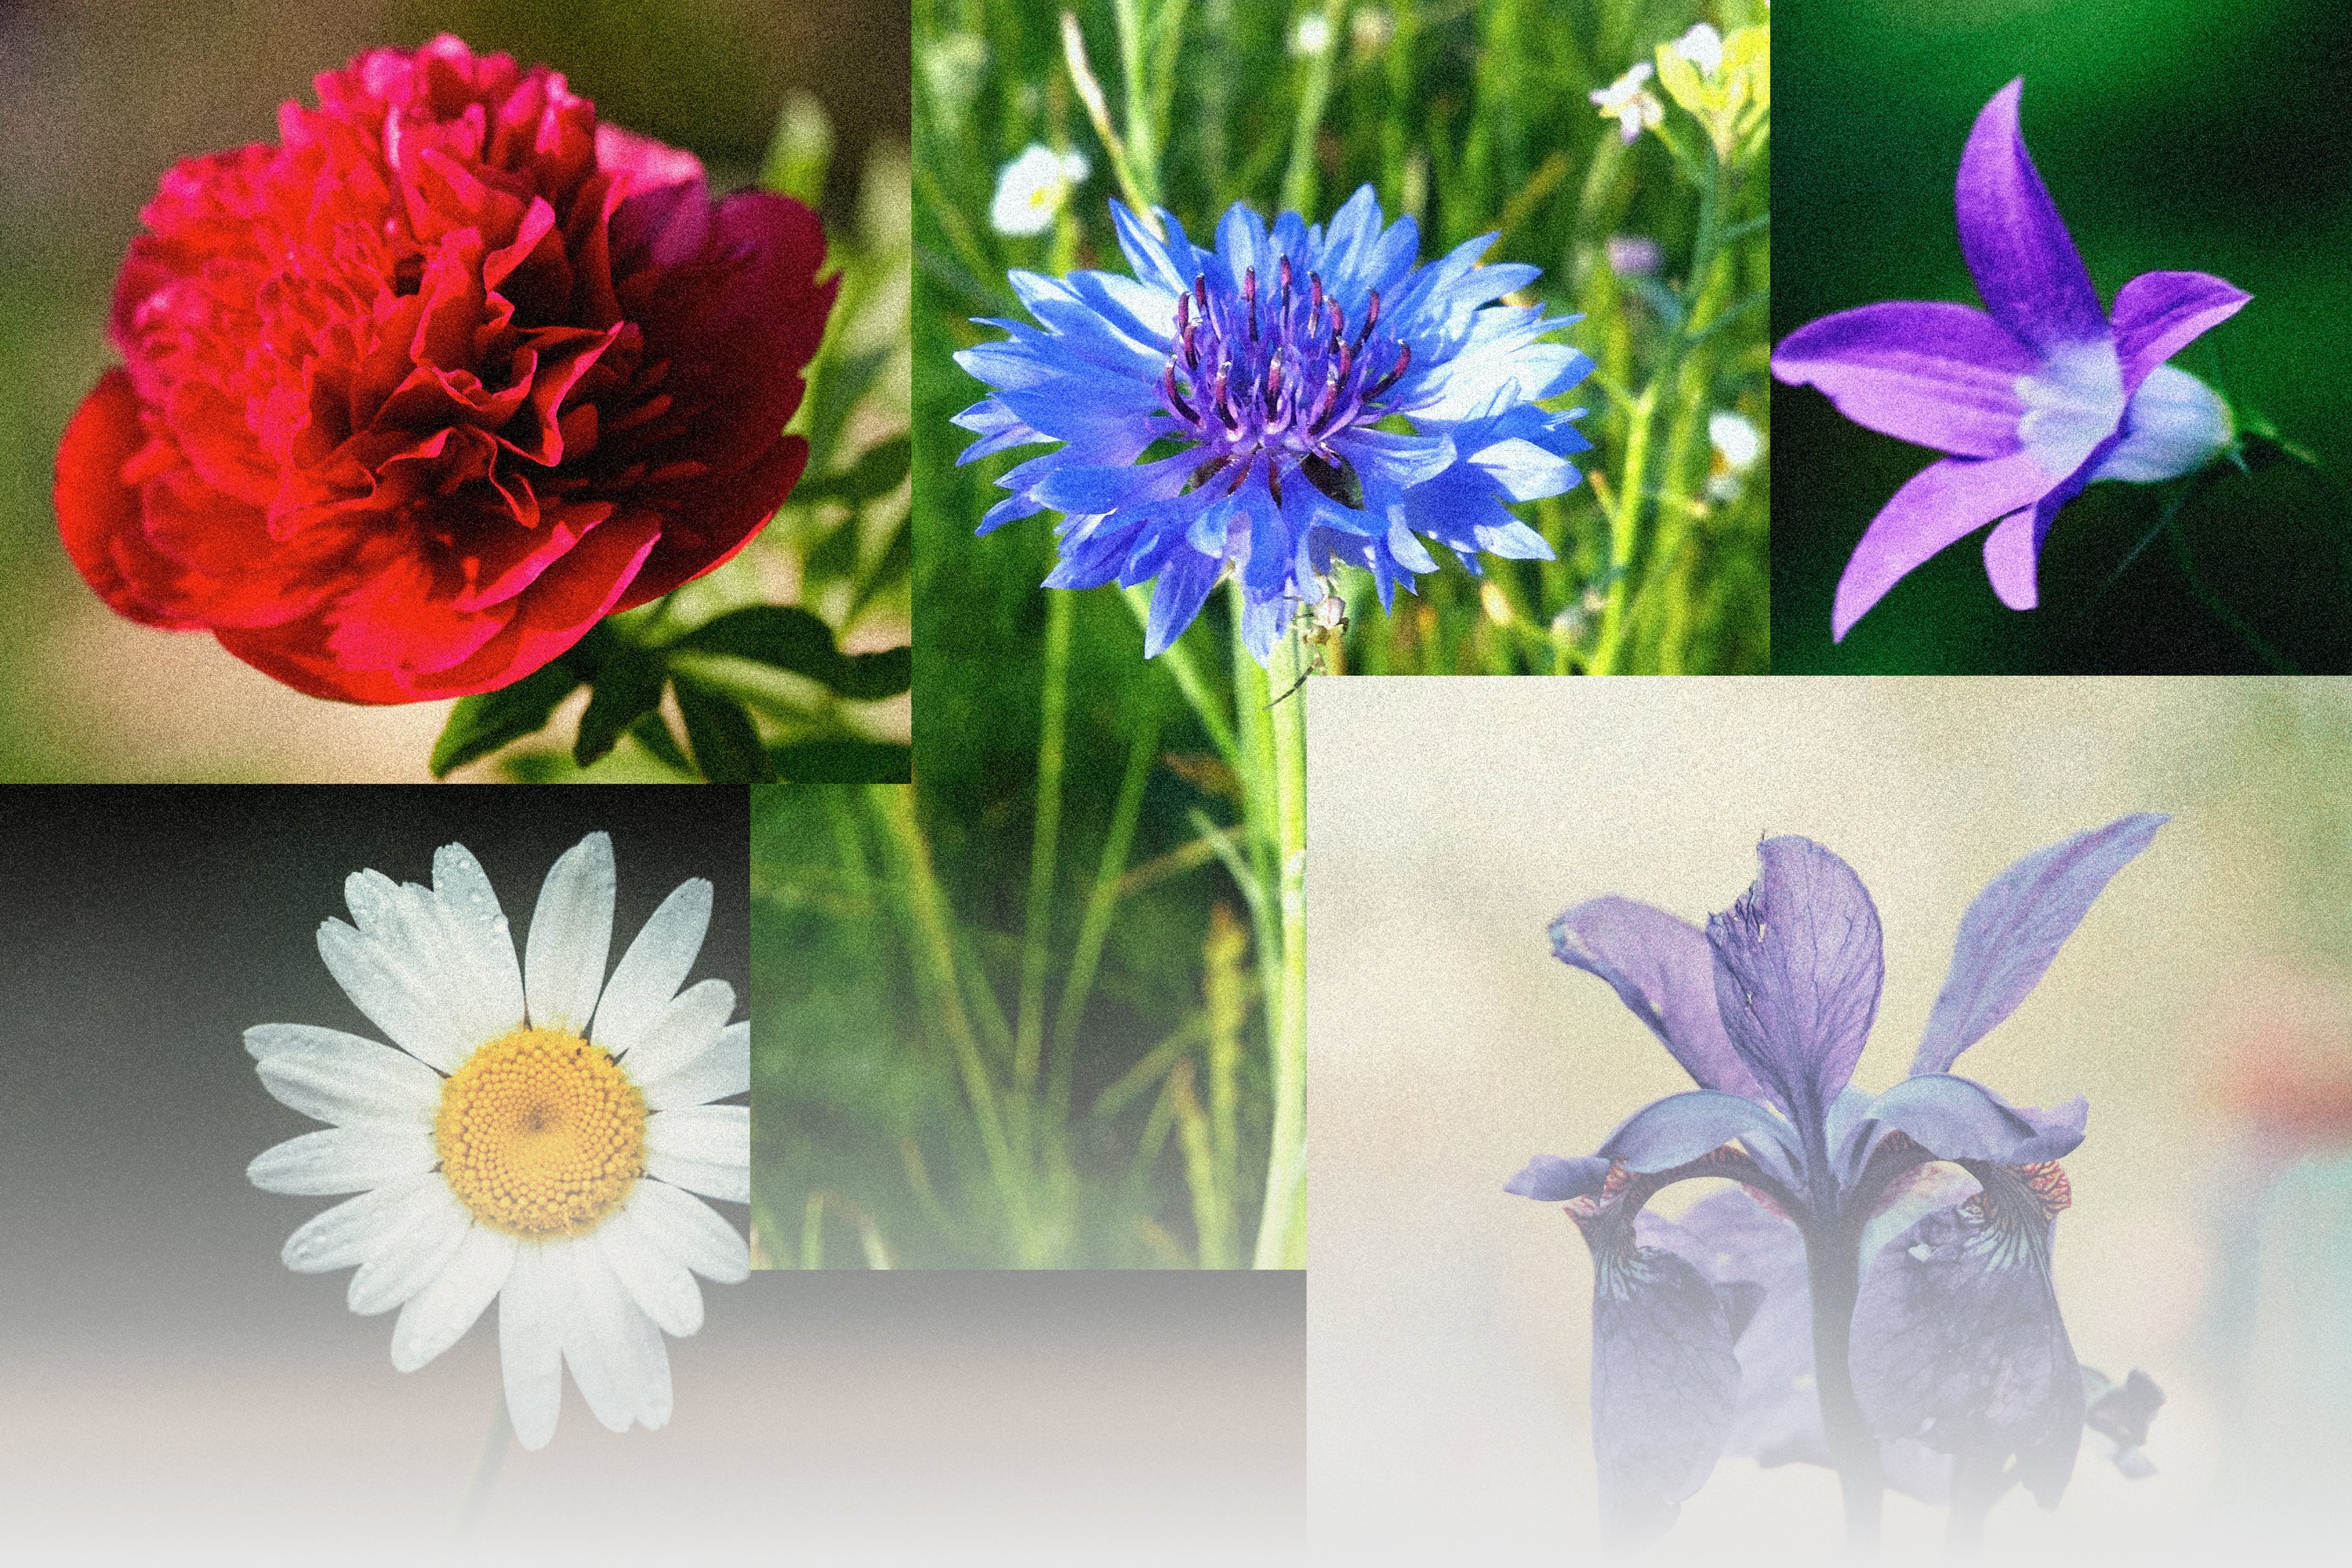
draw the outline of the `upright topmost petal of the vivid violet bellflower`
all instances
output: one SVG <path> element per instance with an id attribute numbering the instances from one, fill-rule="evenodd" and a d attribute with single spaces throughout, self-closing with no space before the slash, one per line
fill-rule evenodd
<path id="1" fill-rule="evenodd" d="M 2091 273 L 2058 216 L 2018 129 L 2018 94 L 2009 82 L 1969 132 L 1959 155 L 1959 252 L 1992 320 L 2030 348 L 2110 339 Z"/>

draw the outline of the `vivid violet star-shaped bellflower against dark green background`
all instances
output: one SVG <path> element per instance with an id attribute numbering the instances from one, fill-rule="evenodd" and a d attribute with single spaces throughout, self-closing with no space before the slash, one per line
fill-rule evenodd
<path id="1" fill-rule="evenodd" d="M 1994 524 L 1985 571 L 2011 609 L 2058 508 L 2098 480 L 2171 480 L 2230 442 L 2230 409 L 2166 364 L 2249 294 L 2206 273 L 2143 273 L 2098 306 L 2018 132 L 2023 78 L 1976 118 L 1959 155 L 1959 252 L 1985 299 L 1893 301 L 1799 327 L 1771 357 L 1858 425 L 1950 456 L 1896 491 L 1837 578 L 1837 639 L 1903 574 Z M 1990 313 L 1990 315 L 1987 315 Z"/>

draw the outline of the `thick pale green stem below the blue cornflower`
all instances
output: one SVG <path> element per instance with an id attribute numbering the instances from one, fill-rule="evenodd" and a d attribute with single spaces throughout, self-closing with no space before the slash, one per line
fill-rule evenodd
<path id="1" fill-rule="evenodd" d="M 1275 644 L 1268 684 L 1298 679 L 1298 637 Z M 1282 912 L 1282 980 L 1265 985 L 1272 1039 L 1275 1131 L 1265 1157 L 1265 1211 L 1258 1218 L 1256 1267 L 1305 1262 L 1308 1133 L 1308 729 L 1305 689 L 1272 715 L 1275 865 Z"/>

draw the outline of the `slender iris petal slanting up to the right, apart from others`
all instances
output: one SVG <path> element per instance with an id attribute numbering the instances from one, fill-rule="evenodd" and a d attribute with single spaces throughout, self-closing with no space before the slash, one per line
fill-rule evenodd
<path id="1" fill-rule="evenodd" d="M 2077 832 L 1987 882 L 1959 919 L 1952 969 L 1929 1013 L 1912 1072 L 1947 1072 L 1962 1051 L 2009 1018 L 2049 973 L 2058 947 L 2074 936 L 2114 872 L 2131 865 L 2169 820 L 2159 811 L 2140 811 Z"/>

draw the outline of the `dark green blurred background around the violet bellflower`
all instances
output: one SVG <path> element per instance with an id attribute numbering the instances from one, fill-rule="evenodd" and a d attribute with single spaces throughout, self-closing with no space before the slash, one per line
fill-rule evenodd
<path id="1" fill-rule="evenodd" d="M 1806 0 L 1780 16 L 1792 160 L 1776 207 L 1773 339 L 1882 299 L 1976 303 L 1952 179 L 1969 125 L 2025 78 L 2025 141 L 2112 299 L 2147 270 L 2218 273 L 2253 301 L 2178 362 L 2270 421 L 2293 461 L 2223 470 L 2187 496 L 2171 548 L 2117 567 L 2183 498 L 2100 484 L 2042 555 L 2042 609 L 2002 609 L 1983 536 L 1905 578 L 1830 642 L 1830 597 L 1863 527 L 1931 454 L 1776 393 L 1773 670 L 2260 672 L 2260 642 L 2305 672 L 2352 670 L 2352 433 L 2336 367 L 2352 334 L 2352 45 L 2338 0 Z M 2263 449 L 2256 458 L 2277 458 Z M 1788 489 L 1795 484 L 1797 489 Z M 2112 585 L 2110 585 L 2110 578 Z"/>

